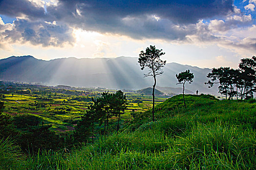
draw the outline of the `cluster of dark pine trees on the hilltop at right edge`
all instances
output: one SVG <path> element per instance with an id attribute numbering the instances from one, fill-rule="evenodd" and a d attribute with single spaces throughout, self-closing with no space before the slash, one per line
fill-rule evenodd
<path id="1" fill-rule="evenodd" d="M 219 84 L 219 93 L 227 99 L 240 98 L 241 100 L 251 99 L 256 92 L 256 57 L 243 58 L 239 68 L 229 67 L 213 68 L 207 75 L 209 88 Z"/>

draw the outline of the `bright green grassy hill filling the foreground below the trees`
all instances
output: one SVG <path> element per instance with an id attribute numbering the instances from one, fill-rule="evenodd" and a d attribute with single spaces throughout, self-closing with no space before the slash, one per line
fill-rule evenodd
<path id="1" fill-rule="evenodd" d="M 256 101 L 219 101 L 210 95 L 174 96 L 121 133 L 72 151 L 21 156 L 0 142 L 0 166 L 29 170 L 255 170 Z M 8 146 L 8 147 L 7 147 Z"/>

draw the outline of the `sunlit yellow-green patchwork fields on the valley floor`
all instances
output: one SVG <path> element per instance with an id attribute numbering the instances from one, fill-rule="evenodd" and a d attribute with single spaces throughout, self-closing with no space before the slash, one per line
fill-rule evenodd
<path id="1" fill-rule="evenodd" d="M 100 92 L 94 91 L 90 97 L 98 97 Z M 45 125 L 52 125 L 51 130 L 65 132 L 74 130 L 81 116 L 85 114 L 87 107 L 93 102 L 77 101 L 73 98 L 79 95 L 66 95 L 63 93 L 49 94 L 5 94 L 5 98 L 0 99 L 4 102 L 4 113 L 11 116 L 19 114 L 29 114 L 43 120 Z M 127 95 L 128 107 L 121 115 L 121 119 L 130 120 L 132 115 L 143 113 L 152 107 L 150 96 L 141 96 L 131 93 Z M 159 104 L 166 98 L 156 98 L 155 104 Z M 138 103 L 136 101 L 140 101 Z M 116 118 L 112 118 L 113 120 Z"/>

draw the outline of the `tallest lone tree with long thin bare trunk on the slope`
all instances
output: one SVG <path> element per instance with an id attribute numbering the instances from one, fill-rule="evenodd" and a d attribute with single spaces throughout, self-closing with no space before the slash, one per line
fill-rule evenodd
<path id="1" fill-rule="evenodd" d="M 158 50 L 155 48 L 155 46 L 151 46 L 146 48 L 146 51 L 141 51 L 139 54 L 139 61 L 138 63 L 141 66 L 141 69 L 148 68 L 149 72 L 147 74 L 144 74 L 145 77 L 152 76 L 154 78 L 154 85 L 153 85 L 153 91 L 152 91 L 152 97 L 153 97 L 153 107 L 152 107 L 152 121 L 155 121 L 154 119 L 154 107 L 155 107 L 155 85 L 156 85 L 156 76 L 163 74 L 163 67 L 166 64 L 166 61 L 162 61 L 160 59 L 160 56 L 164 55 L 165 52 L 161 52 L 161 50 Z"/>

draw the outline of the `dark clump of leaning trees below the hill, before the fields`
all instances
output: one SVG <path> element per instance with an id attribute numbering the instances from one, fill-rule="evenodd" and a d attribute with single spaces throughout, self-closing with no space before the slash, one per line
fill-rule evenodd
<path id="1" fill-rule="evenodd" d="M 78 122 L 75 130 L 75 140 L 85 142 L 92 139 L 94 135 L 105 135 L 109 130 L 109 119 L 116 116 L 118 131 L 120 128 L 120 115 L 127 108 L 126 95 L 121 90 L 116 93 L 103 92 L 99 98 L 92 98 L 93 104 L 88 107 L 81 121 Z M 99 128 L 104 124 L 104 129 Z M 95 132 L 95 125 L 98 125 L 98 132 Z"/>

